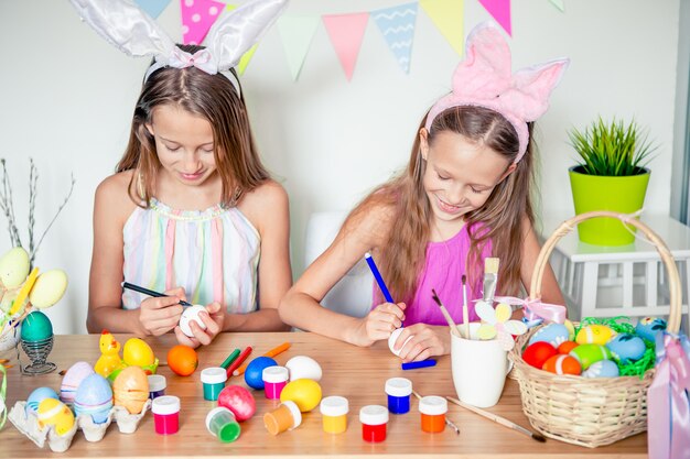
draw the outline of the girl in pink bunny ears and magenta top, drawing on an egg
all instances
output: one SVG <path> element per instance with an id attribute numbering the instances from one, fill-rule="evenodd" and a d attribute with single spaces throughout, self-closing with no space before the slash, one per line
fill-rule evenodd
<path id="1" fill-rule="evenodd" d="M 529 286 L 540 249 L 532 229 L 530 134 L 568 61 L 517 73 L 510 61 L 496 26 L 474 29 L 452 92 L 420 123 L 407 170 L 351 212 L 335 241 L 288 292 L 279 308 L 285 323 L 357 346 L 386 340 L 405 325 L 396 351 L 406 362 L 424 360 L 451 349 L 432 288 L 462 324 L 461 277 L 470 280 L 468 320 L 475 321 L 473 299 L 482 298 L 484 259 L 500 259 L 502 294 Z M 319 302 L 367 252 L 399 303 L 386 303 L 375 287 L 365 317 L 321 307 Z M 550 269 L 541 292 L 543 302 L 563 304 Z"/>

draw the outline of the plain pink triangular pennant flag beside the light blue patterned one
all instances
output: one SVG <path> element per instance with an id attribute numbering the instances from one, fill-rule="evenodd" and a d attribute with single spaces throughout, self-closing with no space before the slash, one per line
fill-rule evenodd
<path id="1" fill-rule="evenodd" d="M 322 19 L 349 81 L 355 72 L 369 13 L 324 14 Z"/>

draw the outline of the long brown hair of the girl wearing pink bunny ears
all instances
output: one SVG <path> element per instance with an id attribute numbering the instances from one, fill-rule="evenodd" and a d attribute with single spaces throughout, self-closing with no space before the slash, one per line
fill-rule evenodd
<path id="1" fill-rule="evenodd" d="M 431 206 L 422 183 L 427 162 L 421 156 L 419 140 L 419 130 L 424 123 L 425 117 L 414 136 L 407 168 L 378 186 L 348 216 L 348 219 L 356 218 L 375 206 L 391 209 L 390 231 L 381 245 L 379 266 L 396 300 L 412 299 L 427 256 Z M 517 168 L 496 185 L 482 208 L 464 216 L 471 240 L 467 256 L 471 285 L 482 275 L 481 253 L 490 240 L 494 254 L 500 254 L 498 287 L 502 294 L 515 295 L 519 292 L 520 248 L 525 238 L 522 219 L 526 217 L 532 223 L 535 219 L 530 197 L 535 162 L 532 123 L 528 123 L 528 129 L 530 140 L 527 153 L 517 163 Z M 508 164 L 518 154 L 518 136 L 513 125 L 503 116 L 486 108 L 462 106 L 443 111 L 431 124 L 429 145 L 443 131 L 482 142 L 507 159 Z"/>

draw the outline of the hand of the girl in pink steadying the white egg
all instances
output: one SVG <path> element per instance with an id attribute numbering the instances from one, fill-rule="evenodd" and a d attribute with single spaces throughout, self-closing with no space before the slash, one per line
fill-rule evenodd
<path id="1" fill-rule="evenodd" d="M 412 337 L 405 346 L 402 343 Z M 449 328 L 432 327 L 427 324 L 414 324 L 405 327 L 395 347 L 402 346 L 400 358 L 403 362 L 425 360 L 432 356 L 444 356 L 451 352 L 451 334 Z"/>

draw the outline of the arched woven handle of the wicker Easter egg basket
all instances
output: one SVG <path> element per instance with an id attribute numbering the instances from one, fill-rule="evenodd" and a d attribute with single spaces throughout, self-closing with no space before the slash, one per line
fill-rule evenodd
<path id="1" fill-rule="evenodd" d="M 549 256 L 551 255 L 551 252 L 553 251 L 553 248 L 556 248 L 558 241 L 563 236 L 572 231 L 573 228 L 575 228 L 575 226 L 581 221 L 596 217 L 615 218 L 621 220 L 624 225 L 627 223 L 637 228 L 647 237 L 647 239 L 649 239 L 649 241 L 651 241 L 654 247 L 657 249 L 659 255 L 661 256 L 661 261 L 664 261 L 664 264 L 666 265 L 666 271 L 668 272 L 669 291 L 671 295 L 671 306 L 669 310 L 667 328 L 669 331 L 677 334 L 678 330 L 680 330 L 680 320 L 682 317 L 682 293 L 680 275 L 678 274 L 678 269 L 676 267 L 673 255 L 671 255 L 671 251 L 657 233 L 655 233 L 647 225 L 643 223 L 636 218 L 632 218 L 632 216 L 627 214 L 612 212 L 610 210 L 594 210 L 591 212 L 580 214 L 563 221 L 541 247 L 541 251 L 539 252 L 539 256 L 537 258 L 537 262 L 535 265 L 535 271 L 532 273 L 531 285 L 529 287 L 529 297 L 541 297 L 540 289 L 541 281 L 543 278 L 543 271 L 546 269 Z"/>

